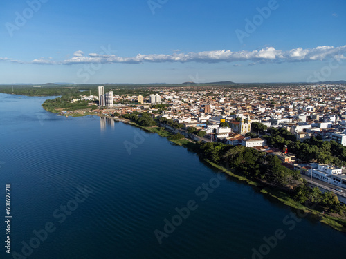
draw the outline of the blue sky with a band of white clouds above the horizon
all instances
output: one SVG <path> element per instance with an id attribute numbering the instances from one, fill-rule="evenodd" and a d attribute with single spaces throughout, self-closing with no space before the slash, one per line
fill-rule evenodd
<path id="1" fill-rule="evenodd" d="M 0 84 L 346 80 L 344 0 L 0 5 Z"/>

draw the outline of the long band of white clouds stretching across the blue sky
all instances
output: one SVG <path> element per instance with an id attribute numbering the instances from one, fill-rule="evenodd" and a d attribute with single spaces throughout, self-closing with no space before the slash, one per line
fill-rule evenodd
<path id="1" fill-rule="evenodd" d="M 144 64 L 144 63 L 162 63 L 162 62 L 198 62 L 198 63 L 219 63 L 219 62 L 239 62 L 249 61 L 251 64 L 272 62 L 304 62 L 304 61 L 323 61 L 326 59 L 345 59 L 343 55 L 346 52 L 345 46 L 318 46 L 316 48 L 294 48 L 292 50 L 275 50 L 273 47 L 263 48 L 262 50 L 237 51 L 231 50 L 212 50 L 203 52 L 165 54 L 138 54 L 136 57 L 119 57 L 116 55 L 103 55 L 89 53 L 77 50 L 73 57 L 62 61 L 54 61 L 51 58 L 40 57 L 32 61 L 19 61 L 7 57 L 0 57 L 0 61 L 10 61 L 21 64 L 42 64 L 42 65 L 73 65 L 73 64 Z M 103 53 L 103 52 L 102 52 Z M 235 66 L 239 66 L 236 64 Z"/>

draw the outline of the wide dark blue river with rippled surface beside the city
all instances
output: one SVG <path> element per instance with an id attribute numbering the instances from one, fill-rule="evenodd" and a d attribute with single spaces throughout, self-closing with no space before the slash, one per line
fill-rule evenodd
<path id="1" fill-rule="evenodd" d="M 3 216 L 5 184 L 12 190 L 12 254 L 1 246 L 0 258 L 23 251 L 35 259 L 345 258 L 345 233 L 297 218 L 255 187 L 219 180 L 225 175 L 156 134 L 97 116 L 48 113 L 41 107 L 48 98 L 0 94 Z M 210 193 L 201 189 L 209 182 Z M 188 215 L 177 216 L 175 208 L 190 200 Z M 176 227 L 165 233 L 164 220 L 172 218 Z M 47 223 L 51 232 L 38 244 L 33 231 Z M 275 231 L 280 240 L 269 247 L 264 238 Z"/>

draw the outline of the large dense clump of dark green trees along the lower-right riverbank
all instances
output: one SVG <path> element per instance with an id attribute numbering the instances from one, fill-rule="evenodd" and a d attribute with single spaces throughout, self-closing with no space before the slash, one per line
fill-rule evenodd
<path id="1" fill-rule="evenodd" d="M 344 215 L 345 205 L 341 205 L 334 193 L 322 193 L 318 188 L 305 186 L 299 171 L 282 166 L 279 158 L 266 155 L 245 146 L 230 146 L 221 143 L 206 143 L 201 146 L 201 157 L 231 171 L 246 175 L 247 178 L 260 180 L 284 190 L 301 204 L 316 204 L 316 209 Z"/>

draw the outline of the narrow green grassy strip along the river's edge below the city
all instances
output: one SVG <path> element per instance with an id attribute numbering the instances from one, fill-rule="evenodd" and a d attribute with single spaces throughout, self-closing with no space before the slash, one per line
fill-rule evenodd
<path id="1" fill-rule="evenodd" d="M 52 111 L 49 111 L 52 112 Z M 132 126 L 136 126 L 137 128 L 141 128 L 144 131 L 150 132 L 150 133 L 156 133 L 160 135 L 161 137 L 166 137 L 170 142 L 183 146 L 184 148 L 188 148 L 189 150 L 196 152 L 197 153 L 197 142 L 192 142 L 188 139 L 182 139 L 182 140 L 170 140 L 169 137 L 173 135 L 170 131 L 167 131 L 165 128 L 161 128 L 159 126 L 151 126 L 151 127 L 146 127 L 146 126 L 141 126 L 139 124 L 136 124 L 136 122 L 132 122 L 129 119 L 120 119 L 116 117 L 109 117 L 107 115 L 100 115 L 98 113 L 91 114 L 91 113 L 85 113 L 85 114 L 78 114 L 78 115 L 69 115 L 71 117 L 82 117 L 82 116 L 88 116 L 88 115 L 98 115 L 99 117 L 108 117 L 110 119 L 114 119 L 115 121 L 118 122 L 123 122 L 125 124 L 129 124 Z M 316 211 L 314 209 L 308 208 L 298 202 L 295 202 L 287 193 L 284 193 L 283 191 L 278 191 L 270 186 L 264 186 L 261 182 L 256 182 L 253 180 L 250 180 L 246 178 L 244 175 L 238 175 L 236 173 L 233 173 L 232 171 L 229 171 L 226 169 L 224 166 L 221 166 L 219 164 L 215 164 L 214 162 L 211 162 L 208 159 L 204 159 L 204 161 L 210 166 L 214 167 L 215 169 L 219 169 L 220 171 L 226 173 L 232 178 L 236 178 L 239 181 L 246 182 L 246 184 L 256 186 L 257 188 L 260 188 L 260 193 L 263 193 L 264 195 L 269 195 L 271 198 L 274 198 L 277 201 L 282 202 L 282 204 L 289 206 L 293 209 L 297 209 L 300 211 L 303 211 L 304 213 L 308 213 L 309 215 L 316 215 L 319 217 L 319 221 L 327 224 L 329 227 L 332 227 L 338 231 L 346 232 L 346 220 L 343 220 L 341 218 L 337 218 L 332 215 L 327 215 L 327 214 L 322 214 L 320 211 Z"/>

